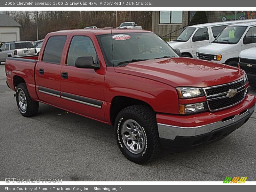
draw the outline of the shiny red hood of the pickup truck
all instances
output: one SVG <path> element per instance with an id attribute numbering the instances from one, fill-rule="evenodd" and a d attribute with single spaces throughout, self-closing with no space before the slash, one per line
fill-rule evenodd
<path id="1" fill-rule="evenodd" d="M 208 87 L 233 82 L 244 76 L 244 71 L 238 68 L 184 57 L 134 62 L 116 67 L 115 71 L 173 87 Z"/>

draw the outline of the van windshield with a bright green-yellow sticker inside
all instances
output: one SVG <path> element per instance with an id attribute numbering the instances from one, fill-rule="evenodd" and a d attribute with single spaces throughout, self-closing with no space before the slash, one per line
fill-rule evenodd
<path id="1" fill-rule="evenodd" d="M 212 43 L 236 44 L 247 26 L 228 26 L 224 28 Z"/>

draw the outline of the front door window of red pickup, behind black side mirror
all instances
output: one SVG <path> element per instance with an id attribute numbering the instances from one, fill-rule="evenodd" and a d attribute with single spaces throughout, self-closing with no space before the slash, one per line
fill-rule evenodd
<path id="1" fill-rule="evenodd" d="M 75 66 L 77 57 L 91 56 L 96 63 L 97 53 L 90 37 L 74 36 L 68 50 L 67 65 Z"/>

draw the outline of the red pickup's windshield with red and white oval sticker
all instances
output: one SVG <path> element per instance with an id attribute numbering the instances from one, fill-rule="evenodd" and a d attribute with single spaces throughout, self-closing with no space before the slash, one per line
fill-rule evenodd
<path id="1" fill-rule="evenodd" d="M 97 36 L 108 66 L 130 62 L 178 57 L 172 48 L 154 33 L 125 33 Z"/>

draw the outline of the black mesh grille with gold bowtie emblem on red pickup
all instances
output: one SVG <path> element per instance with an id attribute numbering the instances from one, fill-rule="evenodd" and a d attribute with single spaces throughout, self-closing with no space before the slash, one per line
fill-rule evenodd
<path id="1" fill-rule="evenodd" d="M 236 93 L 234 94 L 234 92 Z M 204 93 L 210 111 L 234 106 L 244 100 L 244 78 L 232 83 L 204 88 Z"/>

